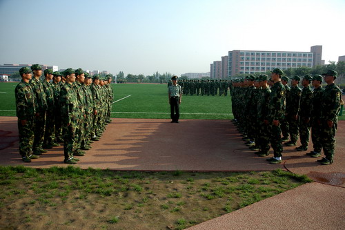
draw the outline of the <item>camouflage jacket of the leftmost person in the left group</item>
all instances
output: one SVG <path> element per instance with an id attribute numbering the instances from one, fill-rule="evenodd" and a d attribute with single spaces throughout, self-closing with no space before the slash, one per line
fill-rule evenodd
<path id="1" fill-rule="evenodd" d="M 18 119 L 34 119 L 36 113 L 36 98 L 30 84 L 21 82 L 14 89 L 16 97 L 17 117 Z"/>

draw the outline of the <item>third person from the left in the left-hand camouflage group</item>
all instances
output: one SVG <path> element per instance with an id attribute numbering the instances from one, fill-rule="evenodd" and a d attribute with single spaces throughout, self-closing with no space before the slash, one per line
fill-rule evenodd
<path id="1" fill-rule="evenodd" d="M 55 143 L 55 99 L 53 86 L 50 83 L 52 80 L 52 70 L 44 70 L 45 79 L 42 82 L 43 90 L 46 93 L 47 112 L 46 112 L 46 128 L 44 131 L 43 148 L 52 148 L 53 146 L 60 146 Z"/>

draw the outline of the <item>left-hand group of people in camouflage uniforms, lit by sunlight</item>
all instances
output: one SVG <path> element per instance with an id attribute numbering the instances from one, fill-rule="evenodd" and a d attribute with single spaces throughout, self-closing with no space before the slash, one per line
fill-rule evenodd
<path id="1" fill-rule="evenodd" d="M 53 146 L 63 143 L 66 164 L 76 164 L 90 144 L 99 141 L 111 122 L 111 77 L 90 76 L 81 68 L 63 73 L 44 70 L 39 64 L 19 70 L 15 88 L 19 153 L 31 162 Z M 32 76 L 33 75 L 33 76 Z"/>

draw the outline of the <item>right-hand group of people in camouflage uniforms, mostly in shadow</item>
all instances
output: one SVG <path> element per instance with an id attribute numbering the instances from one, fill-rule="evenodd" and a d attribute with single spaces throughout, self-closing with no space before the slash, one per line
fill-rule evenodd
<path id="1" fill-rule="evenodd" d="M 335 132 L 340 109 L 341 91 L 334 84 L 335 70 L 322 75 L 293 76 L 291 87 L 288 77 L 279 68 L 271 71 L 270 77 L 260 75 L 237 79 L 230 86 L 232 95 L 233 122 L 244 136 L 246 145 L 260 157 L 269 155 L 272 146 L 274 155 L 267 160 L 270 164 L 282 162 L 283 144 L 301 146 L 297 151 L 307 151 L 309 135 L 313 151 L 311 157 L 324 157 L 320 164 L 333 163 L 335 154 Z M 327 86 L 322 87 L 322 82 Z M 298 84 L 302 80 L 303 89 Z M 311 90 L 311 84 L 314 90 Z"/>

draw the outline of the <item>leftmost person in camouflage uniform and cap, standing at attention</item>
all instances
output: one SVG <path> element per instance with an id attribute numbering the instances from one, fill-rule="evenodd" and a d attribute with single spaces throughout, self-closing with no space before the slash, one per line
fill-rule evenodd
<path id="1" fill-rule="evenodd" d="M 34 142 L 34 116 L 36 113 L 34 92 L 29 84 L 32 78 L 32 70 L 23 67 L 19 69 L 19 74 L 21 75 L 21 82 L 14 90 L 18 117 L 19 153 L 23 162 L 31 162 L 31 159 L 39 158 L 38 155 L 32 155 L 31 153 Z"/>

